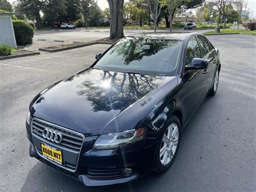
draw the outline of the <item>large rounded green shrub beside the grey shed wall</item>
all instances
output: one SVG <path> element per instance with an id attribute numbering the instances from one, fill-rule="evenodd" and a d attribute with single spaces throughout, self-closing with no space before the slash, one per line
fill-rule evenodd
<path id="1" fill-rule="evenodd" d="M 24 20 L 13 20 L 13 29 L 18 45 L 31 44 L 33 41 L 34 30 Z"/>

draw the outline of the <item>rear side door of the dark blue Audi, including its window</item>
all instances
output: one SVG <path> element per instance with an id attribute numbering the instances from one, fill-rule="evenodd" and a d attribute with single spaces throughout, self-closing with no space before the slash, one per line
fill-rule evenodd
<path id="1" fill-rule="evenodd" d="M 204 58 L 208 62 L 208 72 L 206 74 L 207 76 L 207 91 L 211 89 L 213 78 L 216 72 L 216 50 L 211 45 L 211 43 L 205 38 L 203 35 L 198 35 L 198 44 L 201 49 L 202 58 Z"/>

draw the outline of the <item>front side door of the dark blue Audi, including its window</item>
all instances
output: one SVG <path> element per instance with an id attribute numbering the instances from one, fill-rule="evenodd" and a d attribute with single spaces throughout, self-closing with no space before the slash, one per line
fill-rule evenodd
<path id="1" fill-rule="evenodd" d="M 202 58 L 200 47 L 195 36 L 189 38 L 185 52 L 184 67 L 190 65 L 193 58 Z M 186 82 L 188 90 L 186 112 L 188 116 L 191 116 L 205 99 L 207 93 L 207 76 L 205 76 L 204 69 L 185 69 L 183 79 Z"/>

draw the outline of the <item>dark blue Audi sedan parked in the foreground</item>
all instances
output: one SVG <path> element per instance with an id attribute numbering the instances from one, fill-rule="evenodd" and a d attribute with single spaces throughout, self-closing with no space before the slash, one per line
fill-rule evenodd
<path id="1" fill-rule="evenodd" d="M 218 88 L 220 54 L 198 33 L 127 36 L 32 100 L 29 155 L 86 186 L 168 170 L 180 134 Z"/>

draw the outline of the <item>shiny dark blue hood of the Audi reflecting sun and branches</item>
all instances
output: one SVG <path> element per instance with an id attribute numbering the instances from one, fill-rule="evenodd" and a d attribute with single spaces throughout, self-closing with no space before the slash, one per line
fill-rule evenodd
<path id="1" fill-rule="evenodd" d="M 173 78 L 88 68 L 43 91 L 31 114 L 83 134 L 108 132 L 102 130 L 125 109 Z"/>

